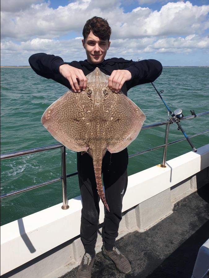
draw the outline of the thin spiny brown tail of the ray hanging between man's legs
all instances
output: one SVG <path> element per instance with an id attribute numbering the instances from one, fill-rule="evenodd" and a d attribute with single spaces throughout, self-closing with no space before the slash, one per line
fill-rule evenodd
<path id="1" fill-rule="evenodd" d="M 107 208 L 107 210 L 110 211 L 108 204 L 106 202 L 105 194 L 104 194 L 103 187 L 102 187 L 102 158 L 101 159 L 93 158 L 93 165 L 94 165 L 94 174 L 95 174 L 96 183 L 97 183 L 98 195 L 99 195 L 100 199 L 102 200 L 102 203 Z"/>

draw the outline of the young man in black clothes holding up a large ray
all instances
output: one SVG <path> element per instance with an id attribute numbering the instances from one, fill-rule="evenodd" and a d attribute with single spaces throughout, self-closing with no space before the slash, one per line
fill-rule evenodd
<path id="1" fill-rule="evenodd" d="M 139 84 L 153 82 L 162 72 L 162 65 L 156 60 L 133 62 L 123 58 L 104 60 L 110 47 L 111 28 L 107 21 L 100 17 L 89 19 L 83 29 L 82 40 L 87 60 L 63 62 L 62 58 L 45 53 L 37 53 L 29 58 L 32 69 L 45 78 L 72 88 L 75 92 L 86 89 L 86 75 L 98 67 L 103 73 L 110 75 L 108 86 L 117 93 L 127 91 Z M 102 175 L 105 187 L 105 197 L 110 208 L 106 210 L 103 226 L 102 254 L 112 260 L 117 269 L 123 273 L 131 271 L 128 259 L 115 247 L 118 236 L 119 223 L 122 218 L 122 200 L 125 194 L 128 174 L 127 148 L 119 153 L 106 152 L 102 160 Z M 85 248 L 85 255 L 81 261 L 77 277 L 91 277 L 95 261 L 95 245 L 97 240 L 99 219 L 99 197 L 92 158 L 89 154 L 77 153 L 77 169 L 79 186 L 82 197 L 81 211 L 81 241 Z M 123 194 L 121 194 L 123 192 Z"/>

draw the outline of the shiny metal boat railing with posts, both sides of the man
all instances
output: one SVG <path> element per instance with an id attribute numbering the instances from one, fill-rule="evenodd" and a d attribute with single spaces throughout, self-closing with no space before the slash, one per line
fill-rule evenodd
<path id="1" fill-rule="evenodd" d="M 186 116 L 183 119 L 181 119 L 180 121 L 196 118 L 196 117 L 199 117 L 199 116 L 205 116 L 205 115 L 208 115 L 208 114 L 209 114 L 209 111 L 202 112 L 202 113 L 199 113 L 199 114 L 196 114 L 196 115 Z M 168 145 L 172 145 L 172 144 L 175 144 L 177 142 L 186 140 L 186 138 L 182 138 L 182 139 L 179 139 L 179 140 L 172 141 L 172 142 L 168 143 L 168 133 L 169 133 L 170 124 L 172 124 L 172 121 L 167 120 L 167 121 L 164 121 L 164 122 L 159 122 L 159 123 L 149 124 L 149 125 L 143 126 L 142 130 L 157 127 L 157 126 L 161 126 L 161 125 L 166 125 L 164 144 L 159 145 L 159 146 L 154 147 L 154 148 L 151 148 L 151 149 L 141 151 L 141 152 L 137 152 L 135 154 L 131 154 L 128 157 L 131 158 L 133 156 L 136 156 L 136 155 L 139 155 L 139 154 L 144 154 L 144 153 L 147 153 L 149 151 L 157 150 L 157 149 L 163 147 L 164 148 L 163 149 L 163 161 L 162 161 L 161 167 L 166 167 L 165 162 L 166 162 L 166 154 L 167 154 Z M 189 138 L 198 136 L 200 134 L 207 133 L 208 131 L 209 130 L 203 131 L 201 133 L 194 134 L 194 135 L 190 136 Z M 2 160 L 2 159 L 7 159 L 7 158 L 14 158 L 14 157 L 17 157 L 17 156 L 22 156 L 22 155 L 27 155 L 27 154 L 34 154 L 34 153 L 39 153 L 39 152 L 43 152 L 43 151 L 47 151 L 47 150 L 54 150 L 54 149 L 58 149 L 58 148 L 61 148 L 61 172 L 62 172 L 61 177 L 56 178 L 56 179 L 51 179 L 51 180 L 48 180 L 48 181 L 43 182 L 43 183 L 39 183 L 39 184 L 36 184 L 36 185 L 32 185 L 32 186 L 29 186 L 29 187 L 26 187 L 26 188 L 22 188 L 22 189 L 19 189 L 19 190 L 15 190 L 15 191 L 3 194 L 3 195 L 1 195 L 1 199 L 12 196 L 12 195 L 15 195 L 15 194 L 18 194 L 18 193 L 21 193 L 21 192 L 25 192 L 25 191 L 28 191 L 28 190 L 31 190 L 31 189 L 34 189 L 34 188 L 37 188 L 37 187 L 40 187 L 40 186 L 43 186 L 43 185 L 46 185 L 46 184 L 50 184 L 50 183 L 54 183 L 56 181 L 62 180 L 62 192 L 63 192 L 62 209 L 69 208 L 69 206 L 67 204 L 68 203 L 68 200 L 67 200 L 67 178 L 72 177 L 74 175 L 77 175 L 78 172 L 74 172 L 74 173 L 71 173 L 69 175 L 66 175 L 66 155 L 65 155 L 66 150 L 65 150 L 65 146 L 63 146 L 61 143 L 53 144 L 53 145 L 47 145 L 47 146 L 43 146 L 43 147 L 37 147 L 37 148 L 33 148 L 33 149 L 28 149 L 28 150 L 20 150 L 20 151 L 16 151 L 16 152 L 7 153 L 7 154 L 1 154 L 0 159 Z"/>

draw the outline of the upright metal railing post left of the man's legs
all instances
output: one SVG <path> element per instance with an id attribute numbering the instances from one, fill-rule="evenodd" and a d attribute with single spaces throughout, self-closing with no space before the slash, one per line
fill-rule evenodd
<path id="1" fill-rule="evenodd" d="M 62 186 L 63 186 L 63 205 L 62 209 L 69 208 L 67 200 L 67 177 L 66 177 L 66 155 L 65 146 L 61 147 L 61 167 L 62 167 Z"/>

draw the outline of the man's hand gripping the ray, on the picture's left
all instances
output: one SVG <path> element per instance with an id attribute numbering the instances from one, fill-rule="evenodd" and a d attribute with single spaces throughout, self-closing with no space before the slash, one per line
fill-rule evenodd
<path id="1" fill-rule="evenodd" d="M 82 70 L 64 64 L 59 66 L 59 72 L 69 81 L 74 92 L 80 93 L 81 90 L 85 91 L 87 78 Z"/>

